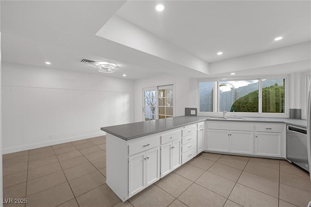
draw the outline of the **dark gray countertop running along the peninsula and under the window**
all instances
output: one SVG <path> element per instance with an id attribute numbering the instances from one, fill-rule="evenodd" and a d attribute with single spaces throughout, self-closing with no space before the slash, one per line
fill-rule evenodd
<path id="1" fill-rule="evenodd" d="M 197 116 L 180 116 L 160 120 L 141 121 L 135 123 L 121 124 L 115 126 L 102 127 L 106 133 L 112 134 L 124 140 L 143 137 L 146 135 L 163 132 L 166 130 L 178 128 L 191 123 L 200 121 L 248 121 L 248 122 L 277 122 L 288 123 L 296 126 L 307 127 L 306 120 L 286 119 L 286 118 L 258 118 L 258 117 L 243 117 L 245 120 L 211 120 L 209 117 Z"/>

